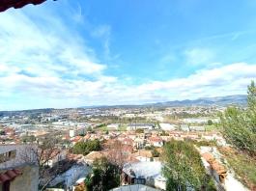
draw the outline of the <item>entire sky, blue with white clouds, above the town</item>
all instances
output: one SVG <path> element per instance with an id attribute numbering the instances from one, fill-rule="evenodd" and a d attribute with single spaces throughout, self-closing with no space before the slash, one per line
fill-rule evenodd
<path id="1" fill-rule="evenodd" d="M 48 0 L 0 14 L 0 110 L 246 94 L 255 0 Z"/>

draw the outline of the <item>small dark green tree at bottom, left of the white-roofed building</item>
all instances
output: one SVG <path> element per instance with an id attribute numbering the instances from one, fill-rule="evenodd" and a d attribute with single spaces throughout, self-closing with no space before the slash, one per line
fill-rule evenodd
<path id="1" fill-rule="evenodd" d="M 86 177 L 87 190 L 107 191 L 119 186 L 120 174 L 118 166 L 102 157 L 93 163 L 93 173 Z"/>

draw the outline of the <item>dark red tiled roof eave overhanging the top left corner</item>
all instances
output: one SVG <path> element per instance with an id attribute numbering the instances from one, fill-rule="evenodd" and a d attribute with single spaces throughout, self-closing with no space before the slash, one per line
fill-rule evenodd
<path id="1" fill-rule="evenodd" d="M 0 12 L 4 12 L 9 8 L 22 8 L 27 4 L 38 5 L 43 3 L 46 0 L 1 0 L 0 1 Z"/>

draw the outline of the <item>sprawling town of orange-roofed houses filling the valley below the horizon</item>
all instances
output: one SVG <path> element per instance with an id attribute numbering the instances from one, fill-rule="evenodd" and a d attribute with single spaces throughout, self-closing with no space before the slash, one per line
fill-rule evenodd
<path id="1" fill-rule="evenodd" d="M 234 183 L 238 190 L 247 190 L 219 152 L 231 150 L 218 130 L 218 113 L 224 109 L 109 107 L 1 112 L 0 180 L 10 188 L 27 182 L 23 190 L 83 190 L 95 161 L 105 157 L 121 166 L 121 187 L 145 185 L 149 190 L 166 190 L 163 146 L 171 140 L 189 140 L 199 150 L 217 190 L 234 190 Z M 99 147 L 78 149 L 81 143 L 95 141 Z M 123 190 L 114 190 L 118 189 Z"/>

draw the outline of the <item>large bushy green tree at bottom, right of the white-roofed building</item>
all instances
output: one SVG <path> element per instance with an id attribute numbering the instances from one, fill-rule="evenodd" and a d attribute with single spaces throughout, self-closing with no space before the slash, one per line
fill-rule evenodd
<path id="1" fill-rule="evenodd" d="M 191 142 L 172 140 L 163 148 L 163 175 L 166 190 L 215 190 L 213 179 L 206 174 L 201 156 Z"/>

